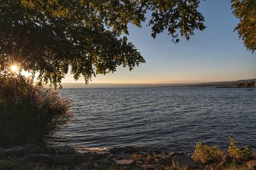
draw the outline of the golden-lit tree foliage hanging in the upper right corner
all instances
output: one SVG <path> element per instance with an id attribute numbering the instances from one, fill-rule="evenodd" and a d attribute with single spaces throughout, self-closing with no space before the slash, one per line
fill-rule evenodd
<path id="1" fill-rule="evenodd" d="M 244 46 L 254 52 L 256 50 L 256 1 L 232 0 L 234 15 L 239 18 L 235 30 L 239 38 L 243 39 Z"/>

